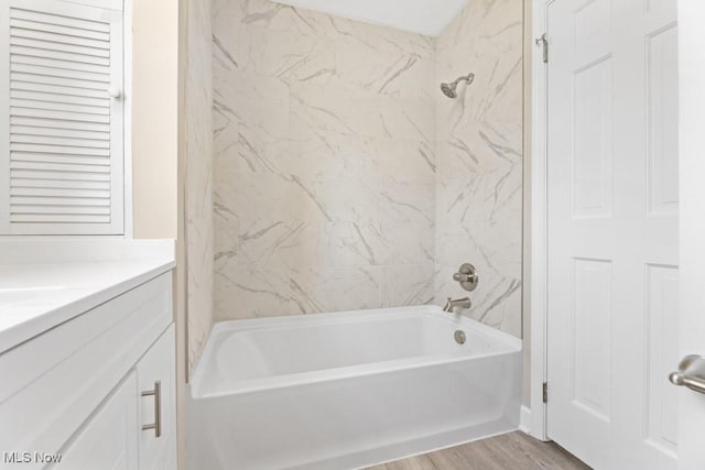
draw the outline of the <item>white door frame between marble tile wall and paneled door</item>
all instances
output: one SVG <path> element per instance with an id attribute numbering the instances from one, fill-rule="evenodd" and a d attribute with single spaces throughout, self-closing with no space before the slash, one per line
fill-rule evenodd
<path id="1" fill-rule="evenodd" d="M 547 436 L 547 405 L 543 403 L 543 383 L 547 380 L 547 67 L 535 40 L 546 33 L 549 6 L 555 0 L 531 0 L 531 216 L 529 243 L 531 269 L 529 277 L 530 306 L 530 395 L 531 413 L 527 430 L 536 439 Z M 546 34 L 549 41 L 550 37 Z M 524 260 L 525 262 L 527 260 Z"/>

